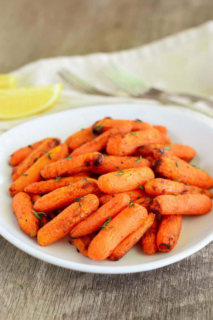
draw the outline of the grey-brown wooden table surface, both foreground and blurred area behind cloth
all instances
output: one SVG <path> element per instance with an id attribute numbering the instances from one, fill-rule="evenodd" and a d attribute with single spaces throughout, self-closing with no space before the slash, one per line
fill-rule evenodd
<path id="1" fill-rule="evenodd" d="M 142 45 L 210 19 L 212 0 L 4 1 L 0 72 L 43 57 Z M 127 275 L 59 268 L 2 237 L 0 248 L 2 320 L 213 319 L 213 243 L 170 266 Z"/>

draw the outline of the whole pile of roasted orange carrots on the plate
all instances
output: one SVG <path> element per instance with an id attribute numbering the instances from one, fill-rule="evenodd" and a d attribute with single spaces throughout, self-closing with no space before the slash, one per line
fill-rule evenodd
<path id="1" fill-rule="evenodd" d="M 177 244 L 182 215 L 212 208 L 212 178 L 189 164 L 193 148 L 163 126 L 104 118 L 65 143 L 46 138 L 10 158 L 12 208 L 42 246 L 69 235 L 93 260 L 118 260 L 141 239 L 145 253 Z"/>

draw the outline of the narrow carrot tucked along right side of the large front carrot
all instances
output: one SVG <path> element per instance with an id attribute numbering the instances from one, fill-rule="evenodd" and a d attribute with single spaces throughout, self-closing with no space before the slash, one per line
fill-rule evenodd
<path id="1" fill-rule="evenodd" d="M 121 241 L 110 254 L 110 260 L 121 259 L 147 232 L 153 224 L 155 215 L 151 212 L 143 219 L 141 226 Z"/>

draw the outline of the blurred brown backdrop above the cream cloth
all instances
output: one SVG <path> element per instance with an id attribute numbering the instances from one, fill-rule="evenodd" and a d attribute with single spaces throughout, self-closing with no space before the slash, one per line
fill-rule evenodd
<path id="1" fill-rule="evenodd" d="M 213 19 L 212 0 L 0 0 L 0 73 L 133 48 Z"/>

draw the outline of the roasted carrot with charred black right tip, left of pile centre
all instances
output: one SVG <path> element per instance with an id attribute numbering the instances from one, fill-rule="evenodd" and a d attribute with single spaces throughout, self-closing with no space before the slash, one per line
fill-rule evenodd
<path id="1" fill-rule="evenodd" d="M 41 176 L 44 179 L 51 179 L 91 170 L 94 166 L 101 165 L 103 158 L 101 153 L 91 152 L 72 157 L 70 160 L 63 159 L 45 166 L 41 170 Z"/>

